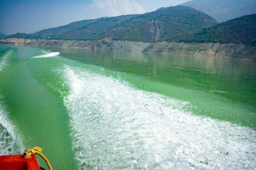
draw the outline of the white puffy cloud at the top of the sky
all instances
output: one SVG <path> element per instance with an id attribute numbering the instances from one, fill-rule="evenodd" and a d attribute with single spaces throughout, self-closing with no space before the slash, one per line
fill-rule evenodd
<path id="1" fill-rule="evenodd" d="M 145 8 L 135 0 L 93 0 L 91 6 L 100 9 L 109 17 L 145 13 Z"/>

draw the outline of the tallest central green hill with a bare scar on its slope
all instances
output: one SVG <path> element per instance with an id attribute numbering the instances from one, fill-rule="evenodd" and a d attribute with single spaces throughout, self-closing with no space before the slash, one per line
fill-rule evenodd
<path id="1" fill-rule="evenodd" d="M 105 31 L 81 40 L 129 40 L 155 42 L 189 31 L 199 31 L 217 24 L 216 20 L 188 6 L 171 6 L 133 17 Z M 62 37 L 66 39 L 67 37 Z"/>

